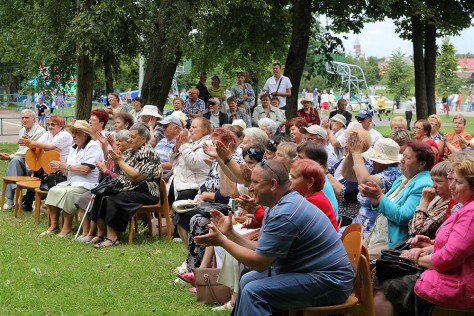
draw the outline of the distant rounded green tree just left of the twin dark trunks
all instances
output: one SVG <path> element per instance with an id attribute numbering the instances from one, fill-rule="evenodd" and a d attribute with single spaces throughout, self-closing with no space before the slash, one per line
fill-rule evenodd
<path id="1" fill-rule="evenodd" d="M 405 63 L 404 57 L 400 51 L 393 53 L 384 76 L 388 92 L 400 97 L 407 97 L 413 87 L 413 67 Z"/>

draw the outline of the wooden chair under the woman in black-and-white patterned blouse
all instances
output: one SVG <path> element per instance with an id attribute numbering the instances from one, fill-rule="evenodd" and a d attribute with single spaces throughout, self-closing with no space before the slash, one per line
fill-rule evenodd
<path id="1" fill-rule="evenodd" d="M 171 240 L 171 218 L 170 218 L 170 209 L 168 205 L 168 194 L 166 193 L 166 182 L 161 179 L 160 181 L 160 201 L 155 205 L 143 205 L 138 209 L 138 211 L 132 216 L 129 222 L 128 229 L 128 244 L 132 244 L 133 241 L 133 230 L 138 232 L 138 214 L 146 214 L 148 222 L 148 232 L 151 234 L 151 213 L 156 213 L 158 215 L 158 232 L 160 238 L 162 236 L 161 231 L 161 222 L 163 216 L 166 220 L 166 234 L 168 240 Z"/>

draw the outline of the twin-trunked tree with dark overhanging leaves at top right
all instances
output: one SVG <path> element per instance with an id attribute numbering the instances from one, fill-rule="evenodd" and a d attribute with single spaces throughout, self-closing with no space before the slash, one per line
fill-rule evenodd
<path id="1" fill-rule="evenodd" d="M 457 34 L 471 25 L 472 1 L 416 0 L 369 1 L 367 15 L 376 20 L 394 19 L 400 37 L 411 40 L 415 69 L 416 112 L 419 118 L 436 113 L 436 38 Z"/>

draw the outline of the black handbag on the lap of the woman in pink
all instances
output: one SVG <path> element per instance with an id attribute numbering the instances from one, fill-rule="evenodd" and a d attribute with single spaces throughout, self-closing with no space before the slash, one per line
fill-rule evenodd
<path id="1" fill-rule="evenodd" d="M 382 255 L 375 261 L 376 274 L 379 281 L 400 278 L 409 274 L 423 272 L 425 268 L 420 267 L 413 261 L 401 258 L 399 250 L 382 250 Z"/>

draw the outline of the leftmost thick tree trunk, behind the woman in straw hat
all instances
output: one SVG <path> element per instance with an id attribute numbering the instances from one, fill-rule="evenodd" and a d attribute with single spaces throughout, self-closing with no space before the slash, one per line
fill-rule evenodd
<path id="1" fill-rule="evenodd" d="M 89 120 L 92 108 L 94 63 L 85 53 L 77 56 L 76 119 Z"/>

